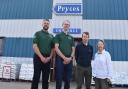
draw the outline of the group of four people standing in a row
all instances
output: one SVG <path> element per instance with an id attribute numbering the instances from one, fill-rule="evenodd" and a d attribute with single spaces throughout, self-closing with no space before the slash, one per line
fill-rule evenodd
<path id="1" fill-rule="evenodd" d="M 50 61 L 54 51 L 56 52 L 56 89 L 61 89 L 64 80 L 64 89 L 70 89 L 72 79 L 72 61 L 76 59 L 76 83 L 81 89 L 85 78 L 86 89 L 91 89 L 92 75 L 95 80 L 96 89 L 109 89 L 108 81 L 112 76 L 111 56 L 104 49 L 104 41 L 99 40 L 97 44 L 98 52 L 93 59 L 93 47 L 89 44 L 89 32 L 83 32 L 82 42 L 75 47 L 74 38 L 68 33 L 70 21 L 62 23 L 63 31 L 53 37 L 48 32 L 50 21 L 44 19 L 43 29 L 35 33 L 33 38 L 34 49 L 34 75 L 31 89 L 38 89 L 38 83 L 42 72 L 42 89 L 48 89 Z"/>

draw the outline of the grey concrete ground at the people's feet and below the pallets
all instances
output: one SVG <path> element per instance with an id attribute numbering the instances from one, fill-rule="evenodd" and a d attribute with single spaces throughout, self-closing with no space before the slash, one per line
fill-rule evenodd
<path id="1" fill-rule="evenodd" d="M 0 89 L 31 89 L 31 82 L 0 80 Z M 39 84 L 39 89 L 42 89 L 41 88 L 41 83 Z M 50 82 L 49 89 L 55 89 L 55 82 Z M 76 89 L 76 84 L 74 82 L 71 83 L 71 88 L 70 89 Z M 85 89 L 85 87 L 83 86 L 82 89 Z M 92 86 L 92 89 L 94 89 L 94 86 Z M 117 87 L 115 87 L 115 88 L 112 88 L 112 89 L 128 89 L 128 88 L 117 88 Z"/>

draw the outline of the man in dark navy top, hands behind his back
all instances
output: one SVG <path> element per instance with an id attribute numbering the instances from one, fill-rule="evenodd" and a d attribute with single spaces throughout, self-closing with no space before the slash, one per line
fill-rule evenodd
<path id="1" fill-rule="evenodd" d="M 89 32 L 82 34 L 82 42 L 76 46 L 75 59 L 77 62 L 77 89 L 82 88 L 85 78 L 86 89 L 91 89 L 93 47 L 89 44 Z"/>

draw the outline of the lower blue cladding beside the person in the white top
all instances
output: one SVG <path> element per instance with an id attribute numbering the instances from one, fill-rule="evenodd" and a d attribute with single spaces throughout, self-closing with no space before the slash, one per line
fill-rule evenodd
<path id="1" fill-rule="evenodd" d="M 106 43 L 107 50 L 111 53 L 113 60 L 128 61 L 128 41 L 106 40 Z"/>

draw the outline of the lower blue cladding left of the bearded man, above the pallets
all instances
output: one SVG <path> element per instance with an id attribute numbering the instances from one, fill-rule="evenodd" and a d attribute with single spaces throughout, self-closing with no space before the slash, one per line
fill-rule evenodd
<path id="1" fill-rule="evenodd" d="M 32 38 L 5 38 L 3 56 L 32 57 Z"/>

